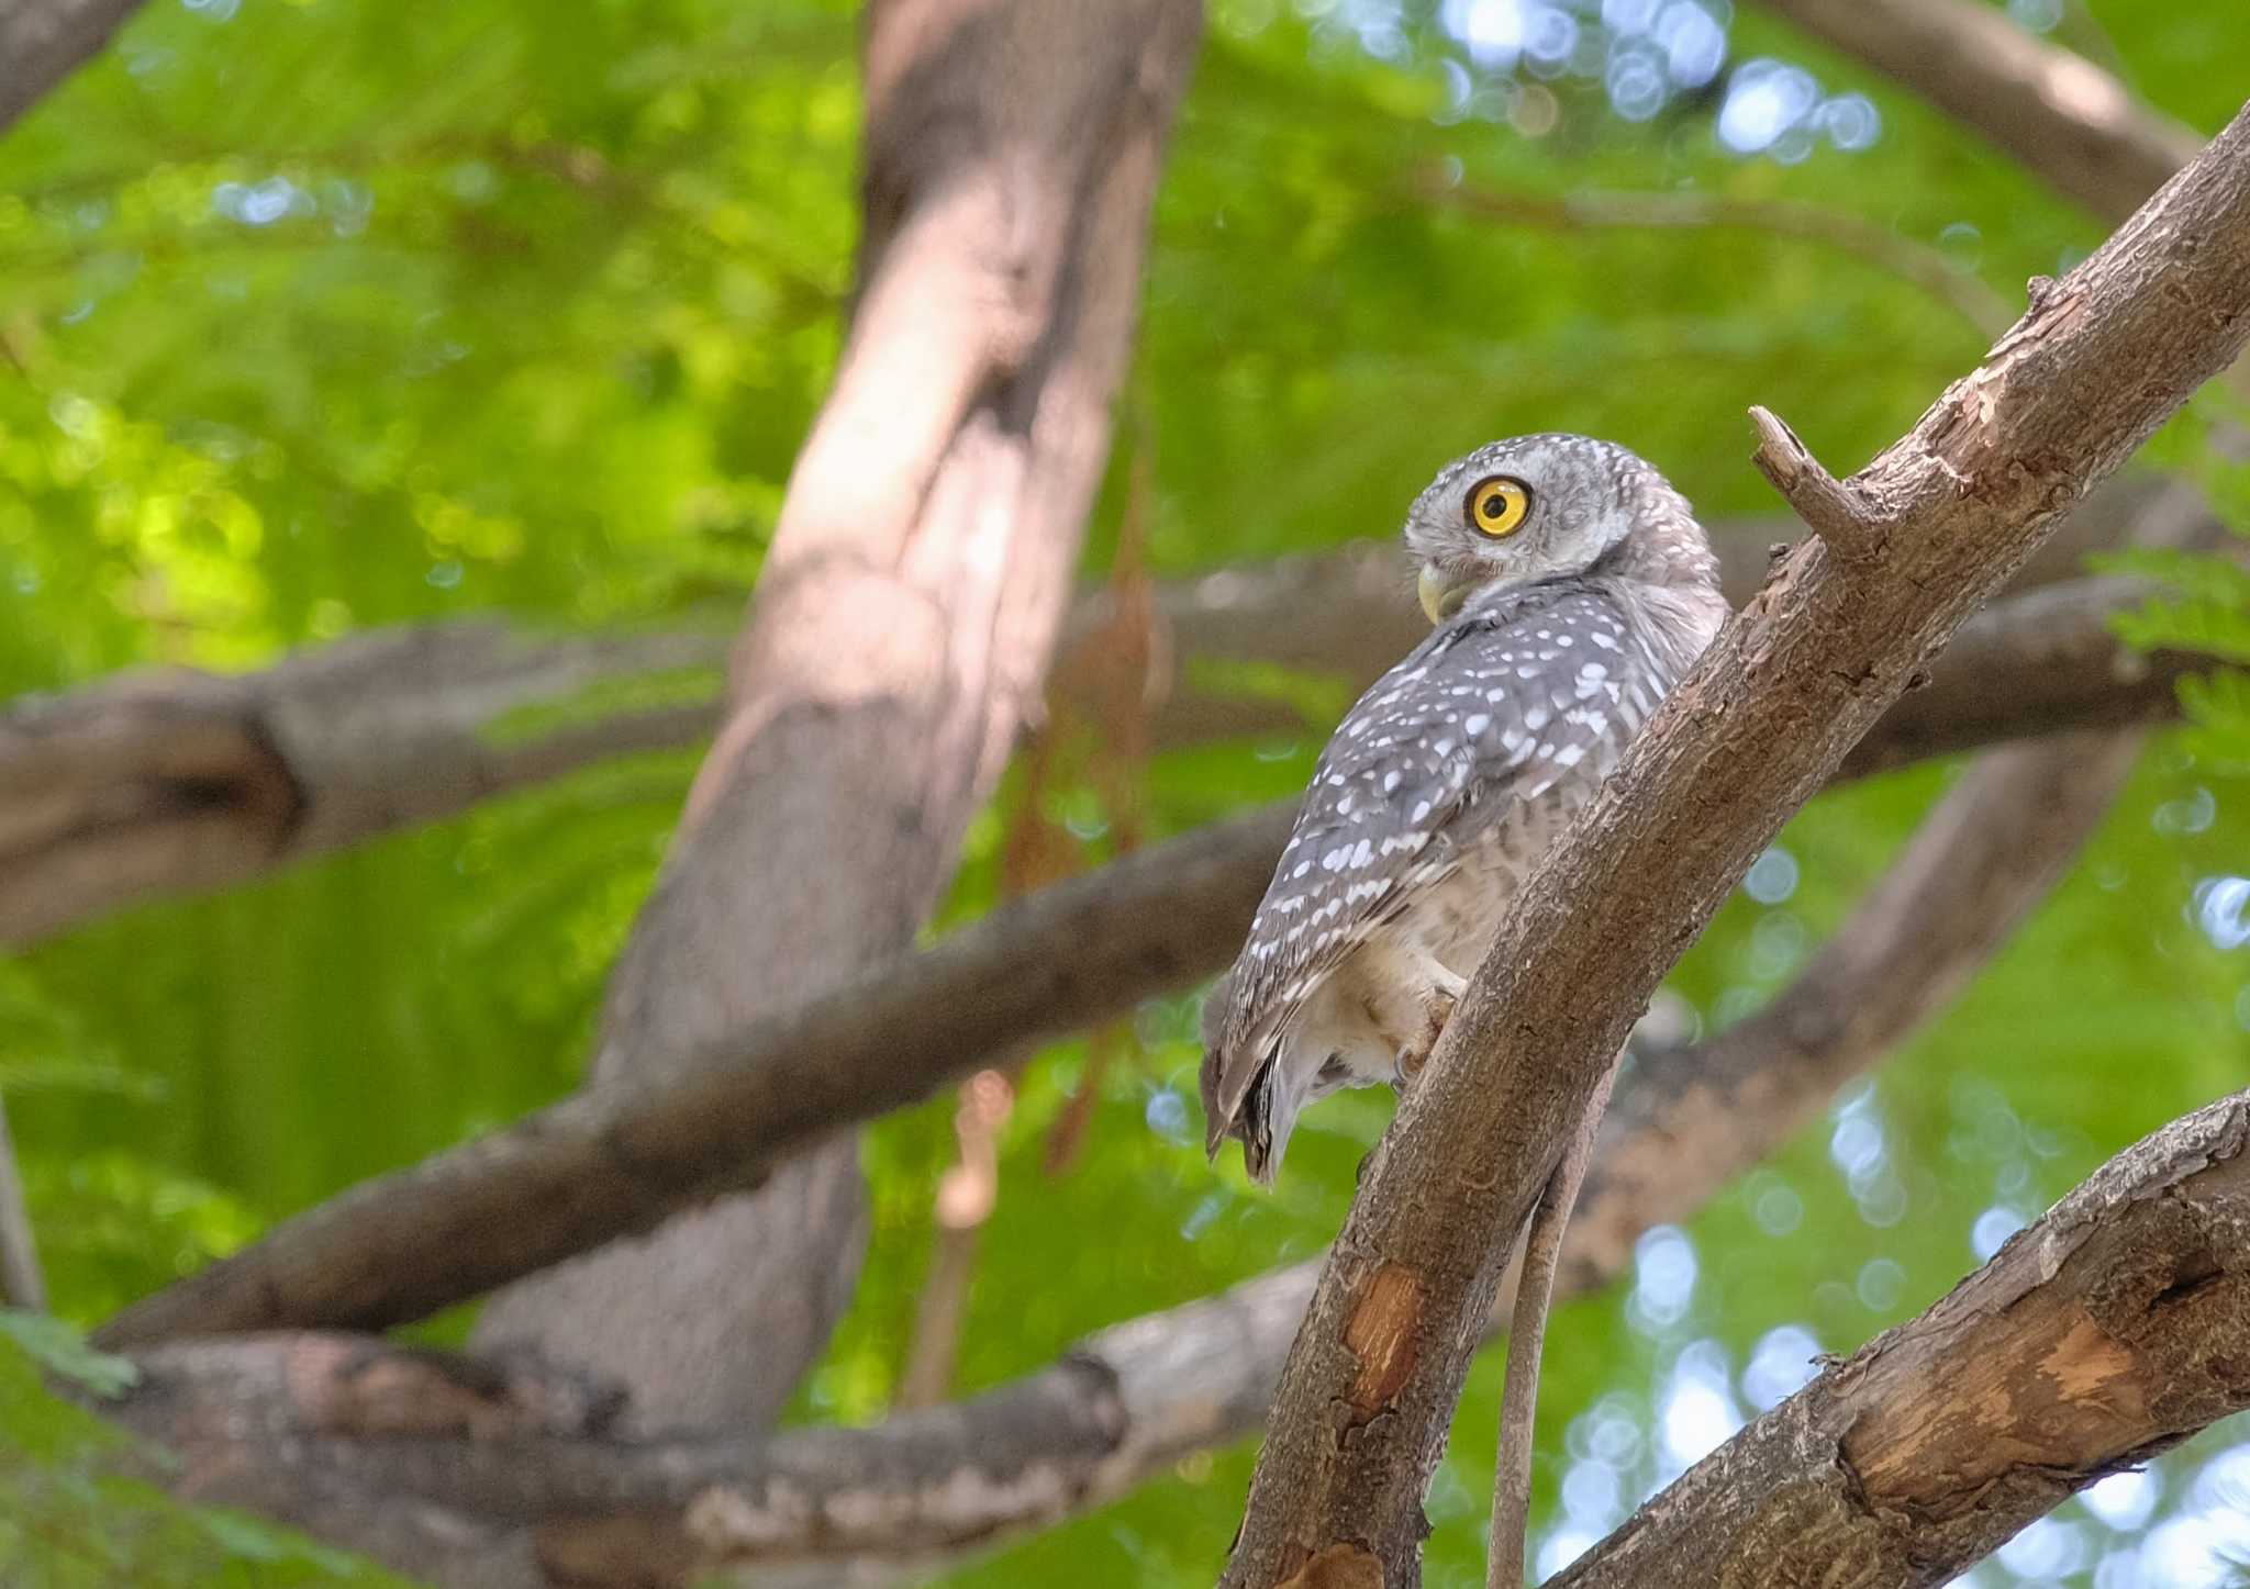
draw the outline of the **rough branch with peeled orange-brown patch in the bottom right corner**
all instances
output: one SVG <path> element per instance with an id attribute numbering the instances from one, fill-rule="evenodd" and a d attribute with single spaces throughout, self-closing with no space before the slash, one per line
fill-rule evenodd
<path id="1" fill-rule="evenodd" d="M 2250 1092 L 2104 1164 L 1688 1470 L 1557 1589 L 1942 1585 L 2250 1407 Z"/>

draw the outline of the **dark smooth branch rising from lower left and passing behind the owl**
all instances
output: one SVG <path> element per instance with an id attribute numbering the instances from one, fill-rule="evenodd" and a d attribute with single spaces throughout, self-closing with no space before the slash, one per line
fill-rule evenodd
<path id="1" fill-rule="evenodd" d="M 2144 668 L 2110 636 L 2108 616 L 2142 596 L 2126 580 L 2081 580 L 1994 607 L 1964 625 L 1937 663 L 1935 683 L 1892 706 L 1840 773 L 1958 751 L 2005 730 L 2018 710 L 2041 730 L 2084 715 L 2102 724 L 2167 715 L 2171 679 L 2198 663 L 2167 654 Z M 2097 685 L 2095 692 L 2072 697 L 2084 683 Z M 2054 755 L 2066 764 L 2084 760 L 2074 744 Z M 2045 798 L 2041 773 L 2023 782 L 2032 798 Z M 1242 944 L 1289 820 L 1292 809 L 1276 805 L 1154 845 L 1004 908 L 814 1011 L 749 1025 L 713 1045 L 731 1059 L 693 1099 L 612 1088 L 364 1182 L 128 1308 L 106 1340 L 376 1328 L 646 1229 L 711 1189 L 756 1180 L 763 1166 L 826 1131 L 927 1097 L 994 1054 L 1076 1032 L 1215 973 Z M 1958 863 L 1937 872 L 1971 874 Z M 1933 906 L 1924 919 L 1964 921 L 1953 904 Z M 1838 935 L 1847 939 L 1852 928 Z M 1904 1011 L 1908 1005 L 1890 989 L 1919 982 L 1926 978 L 1872 982 L 1881 998 L 1814 1000 L 1809 1011 L 1858 1002 Z M 898 1034 L 909 1029 L 916 1041 L 900 1047 Z M 1807 1095 L 1804 1106 L 1825 1095 Z M 776 1097 L 783 1106 L 767 1108 Z M 1629 1088 L 1620 1092 L 1620 1110 L 1634 1106 L 1631 1097 Z M 718 1113 L 698 1119 L 704 1108 L 698 1099 Z M 1755 1110 L 1728 1115 L 1730 1128 L 1757 1119 Z M 634 1160 L 614 1157 L 612 1142 L 632 1144 Z M 1602 1178 L 1598 1166 L 1580 1200 L 1573 1243 L 1602 1220 Z M 450 1205 L 454 1196 L 459 1209 Z"/>

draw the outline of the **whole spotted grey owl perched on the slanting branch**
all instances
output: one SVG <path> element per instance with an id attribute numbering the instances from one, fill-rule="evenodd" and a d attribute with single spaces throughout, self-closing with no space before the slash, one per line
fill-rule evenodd
<path id="1" fill-rule="evenodd" d="M 1240 1137 L 1260 1182 L 1305 1104 L 1420 1070 L 1532 861 L 1726 618 L 1688 501 L 1588 436 L 1456 458 L 1404 535 L 1436 627 L 1321 753 L 1204 1014 L 1206 1146 Z"/>

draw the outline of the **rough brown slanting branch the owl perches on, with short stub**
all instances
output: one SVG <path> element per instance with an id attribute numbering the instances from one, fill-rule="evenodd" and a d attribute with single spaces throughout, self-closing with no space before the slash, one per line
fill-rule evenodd
<path id="1" fill-rule="evenodd" d="M 1766 423 L 1760 458 L 1818 535 L 1539 868 L 1368 1162 L 1226 1585 L 1418 1582 L 1420 1499 L 1494 1254 L 1634 1016 L 1910 674 L 2246 337 L 2250 112 L 2084 265 L 2036 281 L 1987 362 L 1850 483 Z"/>

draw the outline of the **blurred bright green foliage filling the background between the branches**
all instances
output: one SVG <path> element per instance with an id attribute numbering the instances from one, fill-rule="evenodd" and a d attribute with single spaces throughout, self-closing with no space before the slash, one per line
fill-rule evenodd
<path id="1" fill-rule="evenodd" d="M 1433 463 L 1523 429 L 1616 436 L 1712 515 L 1771 510 L 1744 465 L 1748 402 L 1847 467 L 1982 346 L 1863 249 L 1757 227 L 1562 225 L 1570 193 L 1845 211 L 2007 303 L 2099 238 L 1937 112 L 1750 7 L 1732 58 L 1802 63 L 1822 92 L 1863 94 L 1881 124 L 1870 148 L 1742 157 L 1712 135 L 1710 94 L 1624 121 L 1570 74 L 1523 70 L 1512 101 L 1496 81 L 1458 101 L 1436 7 L 1406 7 L 1397 47 L 1357 31 L 1379 11 L 1213 4 L 1132 380 L 1127 447 L 1152 452 L 1145 562 L 1161 575 L 1386 535 Z M 2205 130 L 2232 115 L 2239 83 L 2210 63 L 2250 56 L 2241 7 L 2063 11 L 2072 43 L 2113 49 L 2162 108 Z M 567 27 L 529 0 L 425 9 L 414 27 L 374 0 L 151 4 L 0 139 L 0 694 L 128 665 L 256 665 L 472 611 L 616 629 L 738 605 L 837 348 L 850 45 L 842 0 L 596 0 Z M 1526 106 L 1552 112 L 1546 130 L 1510 121 L 1539 126 Z M 1501 218 L 1431 198 L 1431 180 Z M 2214 458 L 2207 420 L 2167 432 L 2151 461 L 2250 519 L 2250 481 Z M 1116 548 L 1125 474 L 1096 515 L 1089 578 Z M 2178 591 L 2135 620 L 2135 643 L 2250 654 L 2241 575 L 2131 566 Z M 634 699 L 702 683 L 641 681 Z M 1325 679 L 1222 683 L 1289 701 L 1305 730 L 1159 757 L 1150 836 L 1296 791 L 1343 706 Z M 2158 744 L 1946 1020 L 1683 1232 L 1654 1234 L 1631 1283 L 1557 1317 L 1541 1540 L 1606 1526 L 1804 1340 L 1843 1351 L 1908 1317 L 1976 1261 L 1973 1232 L 2036 1214 L 2106 1153 L 2241 1086 L 2250 697 L 2221 677 L 2187 706 L 2194 728 Z M 596 769 L 0 964 L 0 1090 L 58 1313 L 99 1319 L 362 1175 L 565 1092 L 693 764 Z M 1784 987 L 1948 775 L 1816 802 L 1681 966 L 1685 1016 L 1724 1025 Z M 1024 800 L 1091 859 L 1116 847 L 1100 780 L 1073 764 L 1035 798 L 1026 787 L 1017 771 L 970 834 L 940 930 L 999 897 Z M 1195 1014 L 1192 996 L 1136 1014 L 1062 1175 L 1044 1160 L 1091 1047 L 1026 1065 L 961 1389 L 1334 1232 L 1386 1097 L 1314 1110 L 1282 1184 L 1258 1193 L 1197 1151 Z M 891 1402 L 952 1115 L 938 1099 L 866 1137 L 868 1268 L 803 1418 L 873 1420 Z M 346 1571 L 124 1477 L 128 1447 L 38 1389 L 27 1328 L 0 1342 L 0 1578 Z M 72 1346 L 29 1340 L 70 1378 Z M 1496 1400 L 1487 1355 L 1431 1495 L 1433 1585 L 1480 1576 Z M 1184 1461 L 958 1580 L 1208 1582 L 1251 1456 Z M 2164 1472 L 2158 1533 L 2210 1510 L 2187 1461 Z M 2088 1582 L 2095 1558 L 2138 1537 L 2081 1508 L 2056 1526 L 2074 1567 L 2002 1564 L 1980 1582 Z"/>

